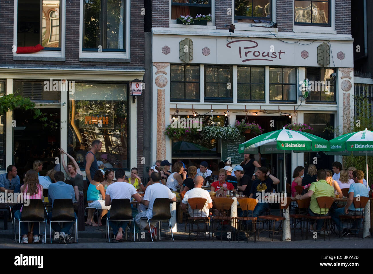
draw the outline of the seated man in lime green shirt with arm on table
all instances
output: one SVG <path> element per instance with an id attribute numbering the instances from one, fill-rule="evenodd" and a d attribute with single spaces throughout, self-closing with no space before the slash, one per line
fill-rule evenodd
<path id="1" fill-rule="evenodd" d="M 329 208 L 320 208 L 316 198 L 322 196 L 334 198 L 334 188 L 326 182 L 326 171 L 323 169 L 317 171 L 317 180 L 317 182 L 311 183 L 310 190 L 308 190 L 307 193 L 305 193 L 304 195 L 298 194 L 297 196 L 295 196 L 295 199 L 301 200 L 311 197 L 310 208 L 308 208 L 308 212 L 310 213 L 310 215 L 324 216 L 328 214 Z M 323 223 L 324 220 L 317 220 L 316 231 L 322 229 Z M 310 230 L 313 230 L 313 227 L 311 227 Z"/>

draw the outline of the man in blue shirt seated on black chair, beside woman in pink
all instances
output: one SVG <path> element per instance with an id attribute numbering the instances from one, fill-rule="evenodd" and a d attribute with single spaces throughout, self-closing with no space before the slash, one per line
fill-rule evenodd
<path id="1" fill-rule="evenodd" d="M 65 175 L 62 171 L 57 171 L 54 174 L 54 184 L 51 184 L 48 188 L 48 200 L 52 202 L 52 211 L 53 211 L 53 204 L 55 199 L 71 199 L 74 201 L 75 199 L 75 191 L 72 185 L 67 185 L 63 182 L 65 179 Z M 52 218 L 52 211 L 49 212 L 48 218 L 49 220 Z M 76 217 L 76 214 L 74 212 Z M 74 238 L 71 237 L 70 229 L 73 225 L 73 222 L 63 222 L 62 229 L 59 223 L 52 223 L 51 227 L 56 232 L 59 232 L 59 240 L 60 243 L 73 243 Z"/>

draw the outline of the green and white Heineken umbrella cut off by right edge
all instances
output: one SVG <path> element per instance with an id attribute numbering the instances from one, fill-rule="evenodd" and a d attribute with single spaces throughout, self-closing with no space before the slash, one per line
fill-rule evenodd
<path id="1" fill-rule="evenodd" d="M 365 155 L 368 188 L 368 155 L 373 155 L 373 131 L 362 130 L 347 133 L 330 140 L 330 152 L 328 155 Z"/>

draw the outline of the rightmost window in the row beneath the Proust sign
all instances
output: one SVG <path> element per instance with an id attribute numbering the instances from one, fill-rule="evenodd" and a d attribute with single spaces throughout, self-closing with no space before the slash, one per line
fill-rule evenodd
<path id="1" fill-rule="evenodd" d="M 306 103 L 335 103 L 335 69 L 306 68 L 310 96 Z"/>

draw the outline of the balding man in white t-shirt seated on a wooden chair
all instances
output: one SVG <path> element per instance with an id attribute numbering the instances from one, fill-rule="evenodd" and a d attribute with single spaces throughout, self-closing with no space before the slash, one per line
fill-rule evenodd
<path id="1" fill-rule="evenodd" d="M 188 190 L 184 199 L 181 201 L 181 208 L 186 212 L 186 204 L 188 204 L 188 199 L 190 198 L 204 198 L 206 199 L 206 204 L 202 210 L 195 210 L 189 206 L 189 215 L 192 217 L 209 217 L 209 208 L 212 208 L 212 199 L 210 193 L 207 190 L 202 189 L 203 177 L 196 176 L 194 178 L 194 188 Z"/>

